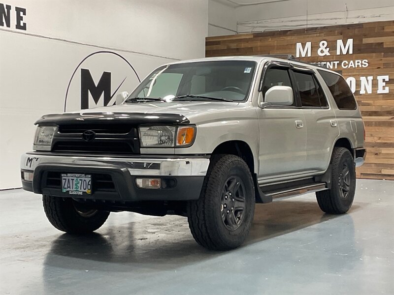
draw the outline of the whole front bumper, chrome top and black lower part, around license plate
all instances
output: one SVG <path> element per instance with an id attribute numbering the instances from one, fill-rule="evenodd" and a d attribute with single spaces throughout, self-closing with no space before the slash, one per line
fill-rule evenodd
<path id="1" fill-rule="evenodd" d="M 51 152 L 28 152 L 21 157 L 21 172 L 33 173 L 33 181 L 22 177 L 23 189 L 37 194 L 75 197 L 62 192 L 62 173 L 92 175 L 91 195 L 84 199 L 108 201 L 180 201 L 197 200 L 208 170 L 209 157 L 147 158 L 58 155 Z M 160 189 L 136 186 L 137 177 L 161 178 L 171 183 Z"/>

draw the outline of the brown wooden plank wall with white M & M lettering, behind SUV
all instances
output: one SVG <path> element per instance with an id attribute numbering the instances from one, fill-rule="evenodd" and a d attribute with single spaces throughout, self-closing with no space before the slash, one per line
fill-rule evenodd
<path id="1" fill-rule="evenodd" d="M 353 54 L 336 55 L 338 39 L 346 44 L 353 38 Z M 329 54 L 319 56 L 320 42 L 326 40 Z M 345 79 L 356 80 L 355 96 L 365 123 L 367 157 L 357 169 L 357 176 L 394 179 L 394 21 L 308 29 L 269 31 L 206 38 L 206 57 L 291 54 L 296 56 L 296 43 L 311 42 L 311 56 L 300 60 L 337 61 Z M 348 52 L 349 53 L 349 52 Z M 368 60 L 367 67 L 342 67 L 343 60 Z M 389 76 L 388 93 L 378 94 L 378 76 Z M 372 93 L 360 94 L 360 77 L 372 76 Z M 367 78 L 366 78 L 367 79 Z"/>

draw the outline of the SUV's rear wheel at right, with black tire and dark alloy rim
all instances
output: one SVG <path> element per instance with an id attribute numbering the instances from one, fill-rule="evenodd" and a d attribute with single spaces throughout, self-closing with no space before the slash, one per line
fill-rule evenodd
<path id="1" fill-rule="evenodd" d="M 326 213 L 346 213 L 356 191 L 356 170 L 347 148 L 334 148 L 331 156 L 331 189 L 316 192 L 319 207 Z"/>

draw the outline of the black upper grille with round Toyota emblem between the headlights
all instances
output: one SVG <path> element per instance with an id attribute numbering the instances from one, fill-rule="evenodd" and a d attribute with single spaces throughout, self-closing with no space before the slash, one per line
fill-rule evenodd
<path id="1" fill-rule="evenodd" d="M 83 140 L 83 132 L 95 132 L 92 141 Z M 52 141 L 52 151 L 84 154 L 130 155 L 139 154 L 138 131 L 135 125 L 106 124 L 65 124 L 59 126 Z"/>

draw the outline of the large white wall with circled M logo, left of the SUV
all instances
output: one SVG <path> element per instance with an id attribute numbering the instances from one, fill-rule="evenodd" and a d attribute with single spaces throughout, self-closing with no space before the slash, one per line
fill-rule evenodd
<path id="1" fill-rule="evenodd" d="M 0 189 L 21 186 L 19 159 L 32 149 L 33 122 L 64 111 L 71 75 L 88 55 L 116 53 L 141 79 L 161 64 L 204 57 L 206 0 L 1 3 L 12 8 L 10 28 L 0 26 Z M 26 8 L 26 30 L 15 29 L 15 6 Z M 90 70 L 96 84 L 104 71 L 111 72 L 111 91 L 125 78 L 118 92 L 130 92 L 138 83 L 127 62 L 114 54 L 96 54 L 81 67 Z M 78 109 L 79 96 L 78 68 L 67 111 Z"/>

